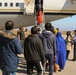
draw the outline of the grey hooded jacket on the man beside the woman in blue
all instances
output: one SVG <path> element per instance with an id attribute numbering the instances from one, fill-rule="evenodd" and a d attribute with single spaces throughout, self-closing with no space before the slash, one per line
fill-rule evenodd
<path id="1" fill-rule="evenodd" d="M 56 38 L 55 35 L 51 31 L 43 31 L 42 34 L 39 35 L 42 40 L 43 47 L 45 49 L 45 54 L 56 54 Z"/>

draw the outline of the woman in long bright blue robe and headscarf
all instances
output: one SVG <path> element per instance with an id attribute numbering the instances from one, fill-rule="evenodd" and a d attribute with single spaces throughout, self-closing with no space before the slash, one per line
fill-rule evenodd
<path id="1" fill-rule="evenodd" d="M 66 63 L 66 45 L 65 40 L 61 35 L 61 32 L 56 34 L 56 46 L 57 46 L 57 54 L 56 54 L 56 63 L 60 67 L 60 71 L 64 69 Z"/>

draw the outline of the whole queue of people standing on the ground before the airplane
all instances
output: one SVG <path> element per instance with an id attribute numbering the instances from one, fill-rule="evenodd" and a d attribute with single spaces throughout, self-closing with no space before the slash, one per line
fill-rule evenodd
<path id="1" fill-rule="evenodd" d="M 76 60 L 76 30 L 74 38 L 71 32 L 67 32 L 64 39 L 59 29 L 57 28 L 55 32 L 52 24 L 47 22 L 42 33 L 38 26 L 34 26 L 31 28 L 31 34 L 25 38 L 24 27 L 19 28 L 17 35 L 12 32 L 13 27 L 14 23 L 9 20 L 5 23 L 5 31 L 0 31 L 2 75 L 16 75 L 19 63 L 17 55 L 22 53 L 22 49 L 27 63 L 27 75 L 33 74 L 34 67 L 37 75 L 44 75 L 47 67 L 49 75 L 53 75 L 57 65 L 58 71 L 64 70 L 73 43 L 73 61 Z"/>

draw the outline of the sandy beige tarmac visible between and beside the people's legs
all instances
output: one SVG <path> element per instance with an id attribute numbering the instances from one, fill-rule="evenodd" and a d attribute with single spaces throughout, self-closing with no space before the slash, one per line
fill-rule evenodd
<path id="1" fill-rule="evenodd" d="M 24 59 L 23 54 L 19 55 L 19 65 L 16 75 L 27 75 L 26 71 L 26 61 Z M 54 72 L 54 75 L 76 75 L 76 61 L 71 61 L 73 59 L 73 50 L 71 50 L 69 59 L 66 61 L 65 68 L 61 72 Z M 0 75 L 2 75 L 2 72 L 0 70 Z M 36 71 L 34 70 L 34 74 L 36 75 Z M 46 71 L 45 75 L 49 75 L 48 71 Z"/>

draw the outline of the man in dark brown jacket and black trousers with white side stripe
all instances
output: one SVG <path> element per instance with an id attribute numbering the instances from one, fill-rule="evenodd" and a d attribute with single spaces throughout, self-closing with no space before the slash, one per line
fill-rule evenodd
<path id="1" fill-rule="evenodd" d="M 27 75 L 33 74 L 34 66 L 37 69 L 37 75 L 41 75 L 41 62 L 45 62 L 45 55 L 42 42 L 37 35 L 37 27 L 31 29 L 31 35 L 24 41 L 24 56 L 27 62 Z"/>

